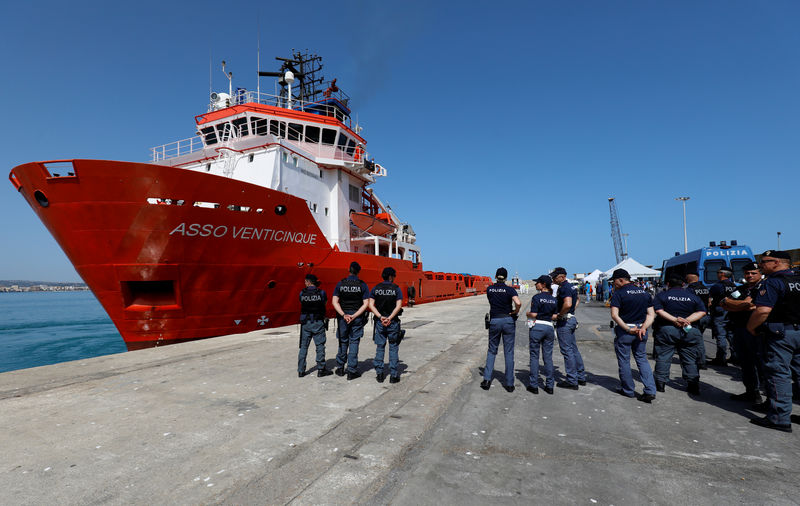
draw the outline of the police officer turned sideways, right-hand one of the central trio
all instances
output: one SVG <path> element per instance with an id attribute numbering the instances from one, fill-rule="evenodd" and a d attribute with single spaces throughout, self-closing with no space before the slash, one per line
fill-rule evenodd
<path id="1" fill-rule="evenodd" d="M 564 356 L 564 372 L 566 380 L 559 381 L 556 386 L 577 390 L 578 385 L 586 384 L 586 371 L 583 367 L 583 357 L 578 350 L 575 340 L 575 328 L 578 320 L 575 319 L 575 310 L 578 308 L 578 291 L 567 281 L 567 271 L 563 267 L 556 267 L 550 273 L 553 283 L 558 286 L 556 300 L 558 312 L 555 315 L 556 336 L 558 348 Z"/>

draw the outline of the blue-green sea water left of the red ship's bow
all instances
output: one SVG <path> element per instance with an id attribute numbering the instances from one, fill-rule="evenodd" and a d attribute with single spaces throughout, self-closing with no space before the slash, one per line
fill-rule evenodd
<path id="1" fill-rule="evenodd" d="M 0 293 L 0 372 L 126 349 L 92 292 Z"/>

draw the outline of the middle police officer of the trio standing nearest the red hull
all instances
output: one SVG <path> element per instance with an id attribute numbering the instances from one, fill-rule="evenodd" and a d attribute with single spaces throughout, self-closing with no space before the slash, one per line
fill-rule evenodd
<path id="1" fill-rule="evenodd" d="M 336 284 L 333 290 L 331 304 L 338 317 L 337 337 L 339 338 L 339 353 L 336 354 L 336 369 L 338 376 L 344 376 L 345 363 L 347 364 L 347 379 L 352 380 L 361 376 L 358 372 L 358 345 L 364 335 L 364 314 L 369 307 L 369 287 L 358 279 L 361 266 L 358 262 L 350 264 L 350 275 Z"/>

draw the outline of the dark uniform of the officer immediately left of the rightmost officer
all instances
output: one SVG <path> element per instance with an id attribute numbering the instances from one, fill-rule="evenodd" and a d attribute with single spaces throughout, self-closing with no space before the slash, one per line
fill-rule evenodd
<path id="1" fill-rule="evenodd" d="M 734 300 L 744 300 L 750 297 L 755 300 L 761 283 L 756 283 L 750 287 L 745 285 L 737 286 L 731 294 Z M 738 296 L 736 296 L 738 294 Z M 750 319 L 752 311 L 728 311 L 728 325 L 730 334 L 733 338 L 733 346 L 738 351 L 737 358 L 742 368 L 742 383 L 744 383 L 745 393 L 753 398 L 760 396 L 761 378 L 764 375 L 761 346 L 758 338 L 748 332 L 747 321 Z"/>

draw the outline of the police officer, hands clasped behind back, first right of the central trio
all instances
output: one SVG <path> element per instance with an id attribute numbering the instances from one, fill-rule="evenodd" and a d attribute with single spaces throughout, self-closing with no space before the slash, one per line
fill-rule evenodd
<path id="1" fill-rule="evenodd" d="M 619 367 L 619 382 L 622 387 L 617 393 L 625 397 L 635 397 L 635 385 L 631 374 L 631 352 L 639 369 L 639 377 L 644 384 L 644 393 L 639 400 L 650 403 L 656 398 L 656 384 L 653 371 L 647 361 L 647 329 L 653 324 L 655 311 L 653 298 L 642 288 L 631 283 L 631 276 L 625 269 L 616 269 L 611 275 L 614 292 L 611 294 L 611 319 L 614 320 L 614 352 Z"/>

